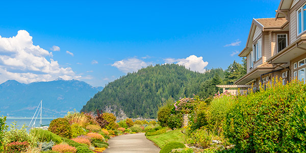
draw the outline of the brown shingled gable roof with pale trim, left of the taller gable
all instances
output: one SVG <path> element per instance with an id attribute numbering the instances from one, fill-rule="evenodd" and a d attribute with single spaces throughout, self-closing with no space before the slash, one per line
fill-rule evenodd
<path id="1" fill-rule="evenodd" d="M 253 36 L 256 30 L 256 27 L 261 29 L 262 31 L 271 31 L 271 30 L 279 30 L 284 28 L 287 24 L 287 19 L 284 18 L 258 18 L 254 19 L 251 24 L 251 29 L 246 41 L 245 48 L 239 53 L 239 57 L 246 57 L 247 54 L 252 50 Z M 251 39 L 251 40 L 250 40 Z"/>

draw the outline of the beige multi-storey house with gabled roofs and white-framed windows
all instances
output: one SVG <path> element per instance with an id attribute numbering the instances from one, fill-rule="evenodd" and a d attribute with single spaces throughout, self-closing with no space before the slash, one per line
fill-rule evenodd
<path id="1" fill-rule="evenodd" d="M 253 19 L 245 48 L 247 73 L 235 85 L 266 84 L 280 78 L 306 78 L 306 0 L 282 0 L 275 18 Z M 244 86 L 244 87 L 246 87 Z"/>

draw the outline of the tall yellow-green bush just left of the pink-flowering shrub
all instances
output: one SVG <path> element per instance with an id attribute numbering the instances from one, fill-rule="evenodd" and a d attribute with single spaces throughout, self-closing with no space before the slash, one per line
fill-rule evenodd
<path id="1" fill-rule="evenodd" d="M 168 126 L 168 121 L 171 115 L 171 110 L 173 108 L 173 103 L 173 99 L 168 99 L 166 103 L 158 110 L 157 118 L 162 126 Z"/>

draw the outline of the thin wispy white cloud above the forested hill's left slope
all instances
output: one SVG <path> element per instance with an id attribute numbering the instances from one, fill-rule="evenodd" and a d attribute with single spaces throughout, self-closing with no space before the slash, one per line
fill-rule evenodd
<path id="1" fill-rule="evenodd" d="M 120 71 L 127 73 L 136 72 L 137 70 L 148 66 L 148 64 L 137 58 L 130 58 L 126 60 L 116 61 L 114 64 L 112 64 L 112 66 L 115 66 Z"/>

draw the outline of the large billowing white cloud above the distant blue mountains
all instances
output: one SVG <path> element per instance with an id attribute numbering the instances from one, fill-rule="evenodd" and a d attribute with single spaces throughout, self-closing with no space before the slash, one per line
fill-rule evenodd
<path id="1" fill-rule="evenodd" d="M 32 37 L 25 30 L 10 38 L 0 36 L 0 82 L 31 83 L 80 77 L 70 67 L 61 67 L 58 61 L 46 57 L 52 57 L 52 54 L 39 45 L 33 45 Z"/>

